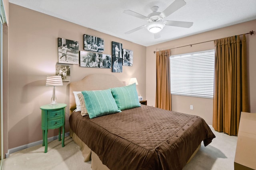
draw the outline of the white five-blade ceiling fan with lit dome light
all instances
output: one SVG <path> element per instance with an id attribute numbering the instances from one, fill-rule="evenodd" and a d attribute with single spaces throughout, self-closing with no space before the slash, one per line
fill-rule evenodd
<path id="1" fill-rule="evenodd" d="M 133 33 L 135 31 L 138 31 L 142 28 L 146 28 L 151 33 L 154 33 L 154 37 L 156 39 L 156 38 L 160 37 L 159 32 L 164 28 L 165 25 L 189 28 L 193 25 L 193 22 L 163 21 L 164 18 L 168 17 L 170 14 L 174 13 L 176 10 L 180 9 L 184 5 L 186 5 L 186 2 L 184 0 L 175 0 L 162 13 L 158 12 L 158 8 L 159 8 L 158 6 L 153 6 L 151 8 L 152 13 L 150 13 L 148 16 L 138 14 L 137 12 L 134 12 L 134 11 L 131 11 L 131 10 L 125 10 L 124 11 L 125 14 L 128 14 L 128 15 L 140 18 L 142 20 L 147 20 L 148 21 L 148 23 L 146 25 L 142 25 L 140 27 L 137 27 L 135 29 L 127 31 L 125 34 L 130 34 L 130 33 Z"/>

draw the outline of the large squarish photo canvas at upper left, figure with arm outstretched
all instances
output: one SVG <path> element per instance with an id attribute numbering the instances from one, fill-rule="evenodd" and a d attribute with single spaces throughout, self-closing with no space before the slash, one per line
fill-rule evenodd
<path id="1" fill-rule="evenodd" d="M 58 63 L 79 64 L 78 41 L 58 38 Z"/>

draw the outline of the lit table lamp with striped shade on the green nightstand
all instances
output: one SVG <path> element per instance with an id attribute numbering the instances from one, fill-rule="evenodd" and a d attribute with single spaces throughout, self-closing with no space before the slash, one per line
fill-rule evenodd
<path id="1" fill-rule="evenodd" d="M 55 94 L 55 86 L 62 86 L 62 78 L 61 76 L 47 76 L 46 77 L 46 86 L 53 86 L 52 89 L 52 105 L 56 105 L 57 102 L 57 98 L 56 98 L 56 94 Z"/>

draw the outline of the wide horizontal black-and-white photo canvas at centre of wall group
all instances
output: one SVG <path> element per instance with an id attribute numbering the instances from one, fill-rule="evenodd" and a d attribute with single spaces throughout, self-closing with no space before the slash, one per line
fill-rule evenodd
<path id="1" fill-rule="evenodd" d="M 110 56 L 111 57 L 111 56 Z M 88 51 L 80 51 L 80 66 L 92 68 L 110 68 L 108 55 Z"/>

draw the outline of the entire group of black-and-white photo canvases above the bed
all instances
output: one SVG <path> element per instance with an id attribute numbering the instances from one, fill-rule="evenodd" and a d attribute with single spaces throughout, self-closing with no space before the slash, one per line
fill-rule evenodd
<path id="1" fill-rule="evenodd" d="M 112 72 L 122 72 L 123 66 L 133 65 L 133 51 L 122 48 L 122 43 L 112 41 L 112 55 L 103 54 L 104 39 L 84 34 L 84 50 L 79 51 L 78 41 L 58 38 L 58 63 L 56 75 L 62 81 L 70 81 L 70 66 L 111 68 Z"/>

